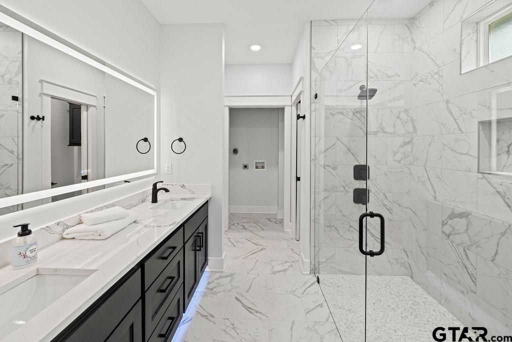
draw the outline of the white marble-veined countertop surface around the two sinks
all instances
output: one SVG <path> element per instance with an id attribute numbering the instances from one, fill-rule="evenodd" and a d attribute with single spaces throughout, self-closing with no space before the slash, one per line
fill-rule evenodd
<path id="1" fill-rule="evenodd" d="M 163 209 L 159 207 L 170 200 L 183 200 L 183 195 L 159 194 L 159 203 L 145 201 L 131 208 L 139 212 L 137 221 L 108 239 L 62 239 L 39 250 L 34 266 L 13 270 L 9 265 L 0 269 L 0 289 L 35 268 L 96 270 L 4 341 L 51 340 L 209 198 L 210 195 L 190 195 L 186 198 L 190 205 Z M 5 309 L 0 308 L 0 314 Z"/>

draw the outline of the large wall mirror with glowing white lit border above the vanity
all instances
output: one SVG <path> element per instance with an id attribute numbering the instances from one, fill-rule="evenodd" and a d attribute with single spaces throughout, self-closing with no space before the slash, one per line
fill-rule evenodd
<path id="1" fill-rule="evenodd" d="M 157 92 L 0 7 L 0 215 L 157 173 Z"/>

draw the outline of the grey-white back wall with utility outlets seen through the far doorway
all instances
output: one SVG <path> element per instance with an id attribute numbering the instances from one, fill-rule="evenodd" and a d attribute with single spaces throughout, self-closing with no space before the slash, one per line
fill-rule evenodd
<path id="1" fill-rule="evenodd" d="M 229 205 L 233 212 L 276 212 L 279 187 L 279 122 L 283 109 L 251 108 L 229 111 Z M 233 148 L 239 154 L 232 153 Z M 255 170 L 265 160 L 266 170 Z M 242 164 L 249 164 L 244 170 Z M 281 182 L 282 184 L 282 182 Z"/>

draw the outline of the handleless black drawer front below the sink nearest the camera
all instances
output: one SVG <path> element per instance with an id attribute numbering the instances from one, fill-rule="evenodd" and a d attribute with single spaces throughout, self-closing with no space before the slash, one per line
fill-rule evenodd
<path id="1" fill-rule="evenodd" d="M 139 268 L 129 272 L 97 303 L 89 307 L 83 316 L 77 318 L 76 329 L 71 328 L 64 336 L 57 336 L 54 340 L 104 341 L 139 300 L 140 277 Z"/>

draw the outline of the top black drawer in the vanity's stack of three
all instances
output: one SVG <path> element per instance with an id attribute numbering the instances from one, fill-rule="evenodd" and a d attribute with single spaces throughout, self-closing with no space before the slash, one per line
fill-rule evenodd
<path id="1" fill-rule="evenodd" d="M 144 262 L 144 290 L 147 290 L 153 284 L 157 276 L 173 260 L 182 246 L 183 227 L 180 227 Z"/>

